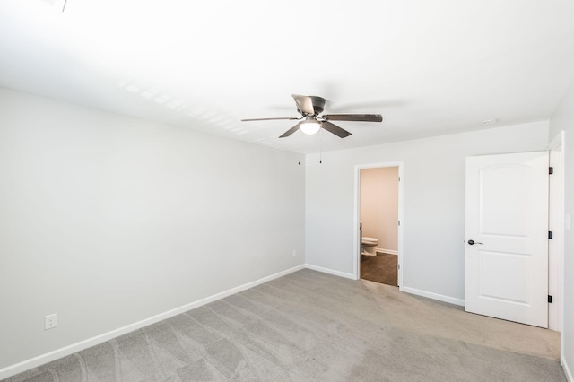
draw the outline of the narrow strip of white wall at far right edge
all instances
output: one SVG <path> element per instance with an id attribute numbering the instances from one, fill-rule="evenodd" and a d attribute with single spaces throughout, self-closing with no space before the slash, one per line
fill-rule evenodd
<path id="1" fill-rule="evenodd" d="M 561 101 L 550 120 L 549 138 L 552 140 L 561 131 L 566 132 L 564 155 L 564 213 L 570 215 L 570 224 L 574 222 L 574 85 Z M 571 226 L 570 226 L 571 227 Z M 574 380 L 574 232 L 564 230 L 564 294 L 562 320 L 562 364 Z"/>

